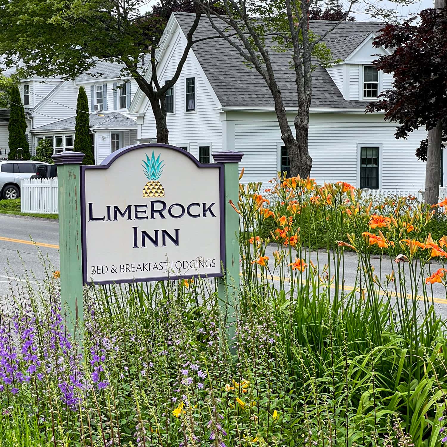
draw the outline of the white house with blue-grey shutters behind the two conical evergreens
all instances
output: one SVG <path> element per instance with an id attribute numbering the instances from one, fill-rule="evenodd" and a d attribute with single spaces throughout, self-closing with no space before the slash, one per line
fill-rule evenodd
<path id="1" fill-rule="evenodd" d="M 35 154 L 40 139 L 49 139 L 53 152 L 72 150 L 75 137 L 78 90 L 89 98 L 90 135 L 97 164 L 124 146 L 135 143 L 137 124 L 128 113 L 137 85 L 123 77 L 118 63 L 98 61 L 89 73 L 75 80 L 33 77 L 20 82 L 25 107 L 26 135 Z M 12 74 L 14 69 L 4 72 Z M 0 149 L 8 150 L 9 110 L 0 110 Z"/>

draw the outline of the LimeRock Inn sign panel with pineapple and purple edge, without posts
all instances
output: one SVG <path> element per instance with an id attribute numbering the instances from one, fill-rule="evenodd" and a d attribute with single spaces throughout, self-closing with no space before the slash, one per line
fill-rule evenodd
<path id="1" fill-rule="evenodd" d="M 84 283 L 222 276 L 222 164 L 139 144 L 81 175 Z"/>

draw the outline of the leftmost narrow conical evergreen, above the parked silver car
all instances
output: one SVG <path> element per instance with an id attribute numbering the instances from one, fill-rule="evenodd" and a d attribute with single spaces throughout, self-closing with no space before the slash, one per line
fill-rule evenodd
<path id="1" fill-rule="evenodd" d="M 9 94 L 9 160 L 13 160 L 17 157 L 23 157 L 25 159 L 30 158 L 30 147 L 28 140 L 25 136 L 26 121 L 25 121 L 25 109 L 23 108 L 22 100 L 20 97 L 19 89 L 17 85 L 13 85 L 11 93 Z M 17 149 L 22 148 L 17 154 Z"/>

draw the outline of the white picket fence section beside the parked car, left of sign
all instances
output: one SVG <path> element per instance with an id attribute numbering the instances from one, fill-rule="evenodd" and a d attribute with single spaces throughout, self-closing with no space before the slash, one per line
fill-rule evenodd
<path id="1" fill-rule="evenodd" d="M 22 179 L 20 195 L 22 213 L 58 214 L 59 212 L 57 177 Z"/>

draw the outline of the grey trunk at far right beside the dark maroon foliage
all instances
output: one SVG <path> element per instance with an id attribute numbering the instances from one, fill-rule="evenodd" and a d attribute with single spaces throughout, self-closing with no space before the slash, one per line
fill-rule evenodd
<path id="1" fill-rule="evenodd" d="M 435 8 L 445 8 L 446 0 L 434 0 Z M 424 200 L 428 205 L 439 201 L 439 176 L 441 174 L 441 145 L 443 129 L 439 121 L 436 127 L 428 131 L 427 165 L 425 171 Z"/>

